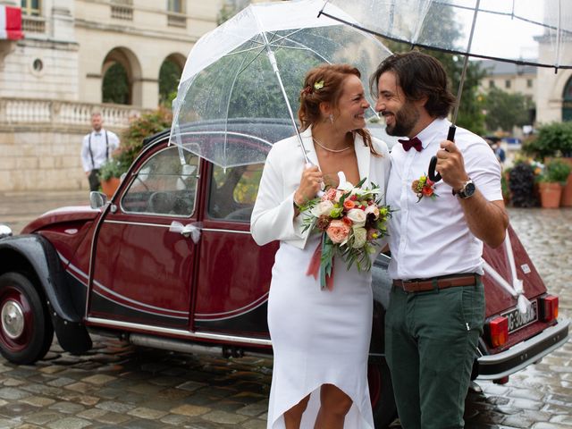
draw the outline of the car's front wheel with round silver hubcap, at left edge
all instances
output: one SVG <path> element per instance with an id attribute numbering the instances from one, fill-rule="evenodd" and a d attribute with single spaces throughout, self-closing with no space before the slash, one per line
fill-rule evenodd
<path id="1" fill-rule="evenodd" d="M 54 327 L 38 290 L 21 273 L 0 275 L 0 353 L 19 365 L 46 356 Z"/>

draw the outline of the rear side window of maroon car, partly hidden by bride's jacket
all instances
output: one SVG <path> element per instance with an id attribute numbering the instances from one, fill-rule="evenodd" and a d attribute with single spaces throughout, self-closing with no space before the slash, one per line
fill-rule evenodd
<path id="1" fill-rule="evenodd" d="M 252 164 L 224 170 L 215 165 L 210 178 L 209 217 L 249 222 L 263 168 L 264 164 Z"/>

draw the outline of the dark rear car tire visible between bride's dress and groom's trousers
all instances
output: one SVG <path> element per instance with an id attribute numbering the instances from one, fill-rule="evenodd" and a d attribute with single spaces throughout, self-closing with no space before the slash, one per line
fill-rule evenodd
<path id="1" fill-rule="evenodd" d="M 397 417 L 390 368 L 384 357 L 369 357 L 367 365 L 369 396 L 374 411 L 375 429 L 386 429 Z"/>

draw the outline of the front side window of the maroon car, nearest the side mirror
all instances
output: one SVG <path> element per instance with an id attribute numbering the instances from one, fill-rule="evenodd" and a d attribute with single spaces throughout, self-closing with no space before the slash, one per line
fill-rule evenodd
<path id="1" fill-rule="evenodd" d="M 199 158 L 166 147 L 139 168 L 121 206 L 126 213 L 189 217 L 195 209 Z"/>

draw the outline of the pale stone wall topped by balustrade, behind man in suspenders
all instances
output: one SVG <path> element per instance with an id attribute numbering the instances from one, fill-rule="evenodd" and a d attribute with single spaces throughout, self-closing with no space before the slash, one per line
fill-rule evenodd
<path id="1" fill-rule="evenodd" d="M 80 150 L 93 111 L 120 137 L 140 114 L 132 106 L 0 100 L 0 191 L 88 189 Z"/>

